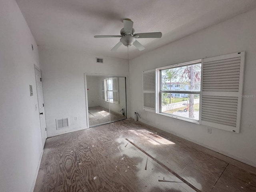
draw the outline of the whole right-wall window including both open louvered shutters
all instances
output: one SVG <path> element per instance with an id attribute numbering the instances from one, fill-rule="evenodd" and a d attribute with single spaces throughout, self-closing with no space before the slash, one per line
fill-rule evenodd
<path id="1" fill-rule="evenodd" d="M 143 110 L 238 133 L 244 60 L 236 52 L 144 71 Z"/>

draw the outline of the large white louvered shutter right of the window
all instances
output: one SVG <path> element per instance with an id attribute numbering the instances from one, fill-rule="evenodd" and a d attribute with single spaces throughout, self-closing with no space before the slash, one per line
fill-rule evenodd
<path id="1" fill-rule="evenodd" d="M 201 124 L 240 131 L 245 52 L 202 60 Z"/>

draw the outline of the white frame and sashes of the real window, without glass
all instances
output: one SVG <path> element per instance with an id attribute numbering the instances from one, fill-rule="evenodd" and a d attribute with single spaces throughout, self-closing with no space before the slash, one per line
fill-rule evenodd
<path id="1" fill-rule="evenodd" d="M 170 96 L 172 96 L 172 94 L 173 95 L 175 95 L 175 94 L 199 94 L 200 95 L 199 109 L 201 109 L 202 85 L 200 85 L 200 90 L 198 90 L 198 91 L 184 91 L 184 90 L 171 90 L 171 89 L 170 90 L 162 90 L 162 73 L 161 73 L 162 70 L 178 68 L 178 67 L 183 67 L 183 66 L 190 66 L 190 65 L 194 65 L 194 64 L 202 64 L 202 59 L 194 60 L 191 62 L 170 65 L 170 66 L 161 67 L 161 68 L 156 69 L 156 78 L 157 78 L 157 81 L 156 81 L 156 95 L 157 95 L 157 97 L 156 97 L 156 113 L 157 114 L 184 120 L 184 121 L 188 121 L 188 122 L 192 122 L 192 123 L 196 123 L 196 124 L 200 124 L 201 110 L 199 110 L 199 120 L 162 112 L 162 93 L 169 93 Z M 201 77 L 202 77 L 202 66 L 201 66 Z M 200 83 L 202 84 L 202 81 L 200 81 Z M 174 84 L 174 86 L 173 86 L 174 89 L 175 89 L 176 85 L 177 84 Z M 176 87 L 176 88 L 180 88 L 180 86 Z"/>

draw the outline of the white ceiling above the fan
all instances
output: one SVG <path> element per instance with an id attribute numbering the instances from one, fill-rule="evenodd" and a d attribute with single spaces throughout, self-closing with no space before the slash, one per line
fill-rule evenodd
<path id="1" fill-rule="evenodd" d="M 138 39 L 146 48 L 129 47 L 129 59 L 188 34 L 256 8 L 256 0 L 16 0 L 40 46 L 80 50 L 98 56 L 127 58 L 127 47 L 110 50 L 122 20 L 136 33 L 162 32 L 162 38 Z"/>

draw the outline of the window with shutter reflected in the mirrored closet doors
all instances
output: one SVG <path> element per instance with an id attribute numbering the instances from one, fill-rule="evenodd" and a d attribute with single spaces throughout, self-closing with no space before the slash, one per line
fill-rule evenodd
<path id="1" fill-rule="evenodd" d="M 118 78 L 104 79 L 104 81 L 102 81 L 102 88 L 104 88 L 104 90 L 102 90 L 102 93 L 104 92 L 103 99 L 106 102 L 118 104 Z"/>

